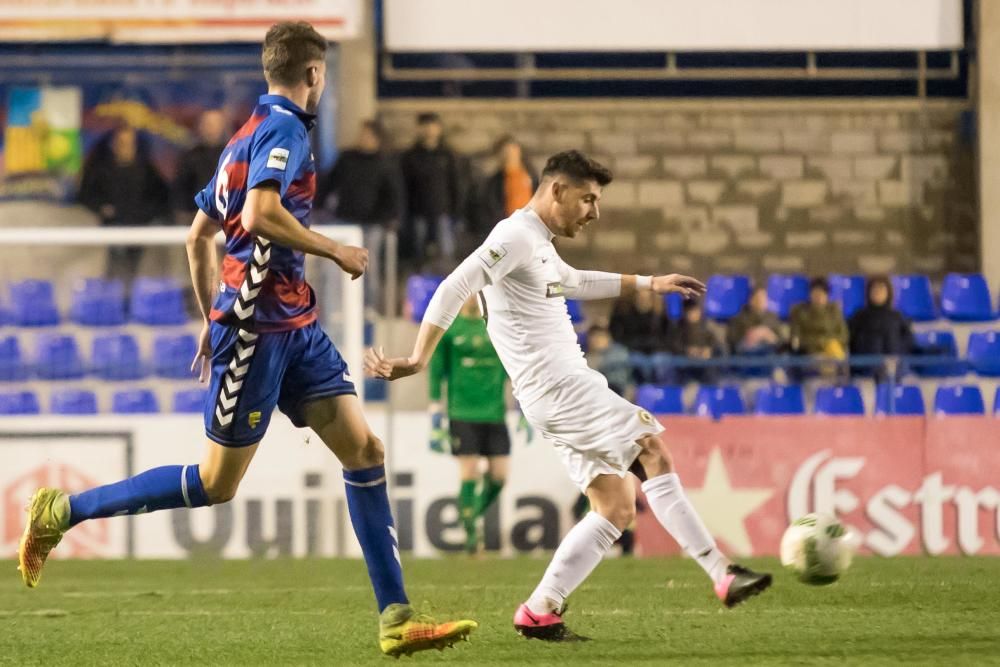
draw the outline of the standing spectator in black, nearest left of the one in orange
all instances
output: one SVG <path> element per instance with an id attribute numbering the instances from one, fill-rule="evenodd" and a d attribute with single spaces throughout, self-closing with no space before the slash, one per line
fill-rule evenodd
<path id="1" fill-rule="evenodd" d="M 458 160 L 444 140 L 437 114 L 417 117 L 417 141 L 403 152 L 400 166 L 407 198 L 402 254 L 419 260 L 433 245 L 437 254 L 451 263 L 462 187 Z"/>

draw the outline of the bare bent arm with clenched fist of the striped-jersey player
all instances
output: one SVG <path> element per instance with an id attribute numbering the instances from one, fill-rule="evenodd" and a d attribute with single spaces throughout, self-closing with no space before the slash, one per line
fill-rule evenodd
<path id="1" fill-rule="evenodd" d="M 286 248 L 333 260 L 351 275 L 352 280 L 359 278 L 368 267 L 368 251 L 364 248 L 337 243 L 303 227 L 281 205 L 277 184 L 268 182 L 251 189 L 240 220 L 243 228 L 251 234 L 263 236 Z"/>

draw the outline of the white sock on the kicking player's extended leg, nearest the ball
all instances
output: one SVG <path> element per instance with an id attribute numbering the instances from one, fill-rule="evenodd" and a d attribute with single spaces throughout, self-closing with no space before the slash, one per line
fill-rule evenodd
<path id="1" fill-rule="evenodd" d="M 701 517 L 691 506 L 677 473 L 646 480 L 642 483 L 642 492 L 646 494 L 646 501 L 660 525 L 677 540 L 688 556 L 701 565 L 713 582 L 719 583 L 726 575 L 726 566 L 730 561 L 719 551 Z"/>

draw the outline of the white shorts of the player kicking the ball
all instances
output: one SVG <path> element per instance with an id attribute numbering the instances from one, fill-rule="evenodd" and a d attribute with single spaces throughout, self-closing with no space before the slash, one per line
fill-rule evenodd
<path id="1" fill-rule="evenodd" d="M 570 375 L 521 410 L 552 441 L 584 492 L 598 475 L 625 477 L 642 451 L 636 441 L 663 431 L 653 415 L 611 391 L 592 369 Z"/>

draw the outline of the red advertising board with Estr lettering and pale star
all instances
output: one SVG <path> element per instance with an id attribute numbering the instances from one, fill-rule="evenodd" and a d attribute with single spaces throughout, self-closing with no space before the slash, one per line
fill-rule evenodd
<path id="1" fill-rule="evenodd" d="M 809 512 L 841 519 L 862 553 L 1000 554 L 1000 430 L 990 417 L 663 420 L 691 501 L 721 546 L 776 555 Z M 649 512 L 643 555 L 677 553 Z"/>

